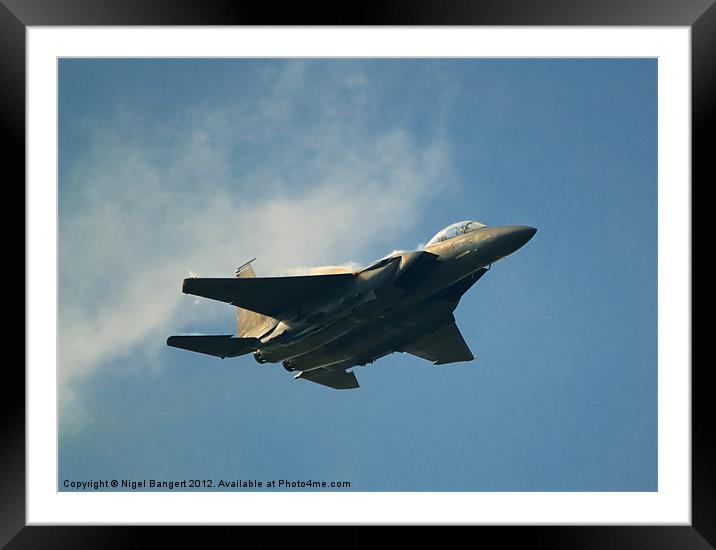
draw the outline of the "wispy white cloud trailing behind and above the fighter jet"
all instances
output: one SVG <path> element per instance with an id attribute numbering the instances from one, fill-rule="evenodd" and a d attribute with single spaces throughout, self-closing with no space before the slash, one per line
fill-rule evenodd
<path id="1" fill-rule="evenodd" d="M 81 377 L 216 316 L 181 293 L 188 273 L 231 277 L 255 256 L 258 276 L 355 269 L 417 223 L 450 181 L 447 146 L 368 130 L 366 80 L 336 77 L 319 97 L 297 62 L 166 127 L 125 114 L 94 128 L 60 183 L 65 404 Z"/>

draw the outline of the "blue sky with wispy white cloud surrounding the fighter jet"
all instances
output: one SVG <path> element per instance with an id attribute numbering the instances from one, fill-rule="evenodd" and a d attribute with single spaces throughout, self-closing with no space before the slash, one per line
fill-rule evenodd
<path id="1" fill-rule="evenodd" d="M 107 60 L 59 71 L 59 480 L 655 491 L 657 62 Z M 361 388 L 251 356 L 190 274 L 366 265 L 463 219 L 537 235 L 455 312 L 477 361 Z"/>

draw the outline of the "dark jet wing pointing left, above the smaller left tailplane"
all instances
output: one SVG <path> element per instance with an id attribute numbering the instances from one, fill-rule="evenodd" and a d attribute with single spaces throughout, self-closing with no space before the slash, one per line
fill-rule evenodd
<path id="1" fill-rule="evenodd" d="M 352 273 L 241 279 L 191 278 L 184 279 L 182 292 L 275 317 L 317 294 L 330 292 L 352 280 Z"/>

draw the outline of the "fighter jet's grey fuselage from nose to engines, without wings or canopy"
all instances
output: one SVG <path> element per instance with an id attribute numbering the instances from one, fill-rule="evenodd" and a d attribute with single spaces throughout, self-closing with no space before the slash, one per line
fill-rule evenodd
<path id="1" fill-rule="evenodd" d="M 302 371 L 372 362 L 438 326 L 461 296 L 445 299 L 446 289 L 484 272 L 534 233 L 525 226 L 483 227 L 424 251 L 397 253 L 355 273 L 348 288 L 285 312 L 260 338 L 255 357 Z"/>

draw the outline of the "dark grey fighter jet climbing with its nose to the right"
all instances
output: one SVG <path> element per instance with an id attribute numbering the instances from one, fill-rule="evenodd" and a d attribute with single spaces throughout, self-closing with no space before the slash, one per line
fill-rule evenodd
<path id="1" fill-rule="evenodd" d="M 536 232 L 462 221 L 421 250 L 359 271 L 256 277 L 251 260 L 233 278 L 184 279 L 185 294 L 236 306 L 236 335 L 170 336 L 167 345 L 222 359 L 253 353 L 259 363 L 281 363 L 296 379 L 335 389 L 357 388 L 347 369 L 394 352 L 434 365 L 472 361 L 453 311 L 492 264 Z"/>

